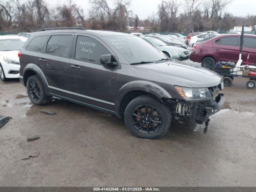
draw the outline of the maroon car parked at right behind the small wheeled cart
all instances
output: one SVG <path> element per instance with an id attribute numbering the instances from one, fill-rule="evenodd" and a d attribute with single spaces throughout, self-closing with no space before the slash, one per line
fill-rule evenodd
<path id="1" fill-rule="evenodd" d="M 201 63 L 202 67 L 213 69 L 216 62 L 237 62 L 239 58 L 240 34 L 216 36 L 202 43 L 196 43 L 190 60 Z M 249 65 L 256 65 L 256 35 L 244 34 L 242 50 L 243 64 L 250 54 Z"/>

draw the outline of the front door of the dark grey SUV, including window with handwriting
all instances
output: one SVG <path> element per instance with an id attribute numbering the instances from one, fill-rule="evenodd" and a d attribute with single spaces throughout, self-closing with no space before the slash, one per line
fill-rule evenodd
<path id="1" fill-rule="evenodd" d="M 116 57 L 100 39 L 85 34 L 75 36 L 69 64 L 71 90 L 75 100 L 114 110 L 118 67 L 100 64 L 100 56 L 104 54 Z"/>

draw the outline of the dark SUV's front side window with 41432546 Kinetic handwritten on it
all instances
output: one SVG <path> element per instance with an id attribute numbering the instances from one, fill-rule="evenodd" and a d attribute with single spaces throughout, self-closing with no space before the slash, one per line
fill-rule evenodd
<path id="1" fill-rule="evenodd" d="M 77 37 L 76 59 L 100 63 L 100 56 L 105 54 L 110 54 L 110 52 L 96 39 L 87 36 Z"/>

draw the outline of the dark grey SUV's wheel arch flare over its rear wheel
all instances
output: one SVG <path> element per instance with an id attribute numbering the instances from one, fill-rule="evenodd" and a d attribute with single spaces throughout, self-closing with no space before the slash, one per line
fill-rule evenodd
<path id="1" fill-rule="evenodd" d="M 35 72 L 40 78 L 41 78 L 41 80 L 42 80 L 42 84 L 43 84 L 43 86 L 44 86 L 44 90 L 45 90 L 45 92 L 46 92 L 46 94 L 48 95 L 48 93 L 49 93 L 49 90 L 48 90 L 48 82 L 47 82 L 47 80 L 46 80 L 46 78 L 45 78 L 45 76 L 44 76 L 44 73 L 42 72 L 42 70 L 36 65 L 36 64 L 32 64 L 32 63 L 30 63 L 30 64 L 27 64 L 25 67 L 24 67 L 24 70 L 23 70 L 23 74 L 22 74 L 22 76 L 23 76 L 23 81 L 24 81 L 24 85 L 26 86 L 26 72 L 28 72 L 28 71 L 33 71 L 33 72 Z"/>

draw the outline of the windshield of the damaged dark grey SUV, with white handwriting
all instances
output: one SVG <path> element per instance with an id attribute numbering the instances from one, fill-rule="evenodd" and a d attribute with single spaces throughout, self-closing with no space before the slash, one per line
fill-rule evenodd
<path id="1" fill-rule="evenodd" d="M 106 36 L 104 37 L 129 62 L 157 61 L 166 58 L 154 46 L 136 36 Z"/>

